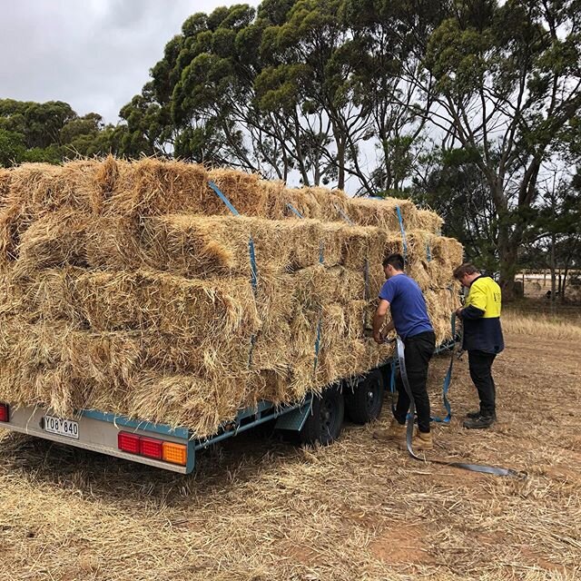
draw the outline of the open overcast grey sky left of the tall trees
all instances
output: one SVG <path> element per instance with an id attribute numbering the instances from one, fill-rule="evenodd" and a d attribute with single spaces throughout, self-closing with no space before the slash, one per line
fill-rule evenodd
<path id="1" fill-rule="evenodd" d="M 241 1 L 0 0 L 0 98 L 64 101 L 116 123 L 189 15 Z"/>

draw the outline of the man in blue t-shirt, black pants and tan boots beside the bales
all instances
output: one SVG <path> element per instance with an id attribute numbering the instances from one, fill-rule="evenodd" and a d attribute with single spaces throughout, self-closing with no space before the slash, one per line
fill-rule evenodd
<path id="1" fill-rule="evenodd" d="M 409 388 L 416 402 L 418 431 L 412 440 L 417 450 L 430 450 L 434 447 L 429 431 L 428 363 L 436 347 L 436 335 L 429 320 L 426 300 L 418 283 L 403 271 L 404 260 L 401 254 L 389 254 L 383 261 L 387 281 L 379 291 L 379 306 L 373 318 L 373 339 L 384 341 L 384 335 L 395 329 L 403 340 L 406 354 L 406 371 Z M 385 317 L 391 310 L 391 320 L 385 327 Z M 395 418 L 389 429 L 376 433 L 381 439 L 404 438 L 406 418 L 409 412 L 409 396 L 398 379 L 398 404 Z"/>

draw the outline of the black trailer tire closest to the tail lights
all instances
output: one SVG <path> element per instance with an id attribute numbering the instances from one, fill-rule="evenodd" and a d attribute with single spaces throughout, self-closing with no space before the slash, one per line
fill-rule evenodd
<path id="1" fill-rule="evenodd" d="M 300 430 L 301 444 L 329 446 L 339 438 L 345 416 L 343 394 L 336 387 L 325 389 L 320 396 L 312 399 L 312 409 Z"/>

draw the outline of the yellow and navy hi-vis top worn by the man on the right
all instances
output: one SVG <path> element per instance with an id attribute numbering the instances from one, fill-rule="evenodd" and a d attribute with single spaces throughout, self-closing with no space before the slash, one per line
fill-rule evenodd
<path id="1" fill-rule="evenodd" d="M 499 353 L 505 348 L 500 326 L 502 293 L 495 281 L 479 276 L 472 281 L 461 317 L 464 322 L 462 349 Z"/>

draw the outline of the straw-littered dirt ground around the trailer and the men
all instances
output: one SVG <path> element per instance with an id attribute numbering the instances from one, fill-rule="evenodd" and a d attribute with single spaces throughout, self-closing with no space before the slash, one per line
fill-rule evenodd
<path id="1" fill-rule="evenodd" d="M 461 428 L 476 403 L 461 361 L 430 457 L 527 479 L 408 458 L 372 438 L 389 405 L 329 448 L 234 438 L 190 477 L 4 434 L 0 580 L 581 579 L 578 345 L 508 334 L 495 370 L 495 427 Z"/>

